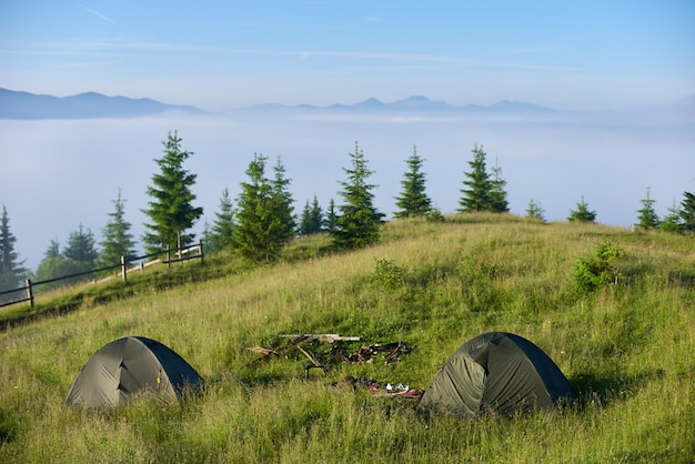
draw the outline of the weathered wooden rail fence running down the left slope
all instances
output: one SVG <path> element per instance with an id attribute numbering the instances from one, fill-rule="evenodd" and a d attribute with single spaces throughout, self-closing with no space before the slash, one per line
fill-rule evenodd
<path id="1" fill-rule="evenodd" d="M 157 256 L 163 256 L 163 259 L 157 258 Z M 149 260 L 151 258 L 157 258 L 157 259 L 145 262 L 145 260 Z M 24 296 L 17 299 L 17 300 L 11 300 L 8 302 L 0 301 L 0 307 L 9 306 L 11 304 L 17 304 L 17 303 L 23 303 L 26 301 L 28 301 L 30 306 L 33 307 L 33 300 L 34 300 L 33 289 L 38 285 L 44 285 L 47 283 L 53 283 L 53 282 L 58 282 L 58 281 L 62 281 L 67 279 L 80 278 L 83 275 L 98 274 L 98 273 L 102 273 L 107 271 L 112 271 L 115 269 L 120 269 L 120 272 L 113 275 L 109 275 L 107 278 L 100 279 L 100 280 L 93 280 L 92 283 L 107 282 L 118 276 L 120 276 L 123 280 L 123 282 L 128 282 L 128 273 L 130 272 L 137 272 L 137 271 L 142 272 L 144 271 L 145 268 L 149 268 L 158 263 L 163 263 L 163 264 L 167 264 L 167 266 L 171 266 L 171 263 L 177 263 L 180 261 L 188 261 L 188 260 L 195 260 L 195 259 L 199 259 L 201 264 L 205 263 L 204 261 L 205 254 L 203 253 L 202 240 L 200 240 L 198 244 L 195 245 L 182 246 L 179 249 L 170 249 L 169 246 L 167 246 L 167 250 L 164 251 L 160 251 L 160 252 L 152 253 L 152 254 L 145 254 L 143 256 L 135 256 L 135 258 L 130 258 L 130 259 L 128 259 L 127 256 L 121 256 L 120 264 L 114 264 L 114 265 L 100 268 L 100 269 L 93 269 L 91 271 L 78 272 L 74 274 L 62 275 L 60 278 L 54 278 L 54 279 L 47 279 L 47 280 L 39 281 L 39 282 L 32 282 L 31 279 L 27 279 L 24 281 L 24 286 L 0 292 L 0 296 L 11 294 L 11 293 L 20 293 L 20 292 L 23 292 L 24 294 Z M 133 262 L 138 262 L 138 264 L 131 265 Z"/>

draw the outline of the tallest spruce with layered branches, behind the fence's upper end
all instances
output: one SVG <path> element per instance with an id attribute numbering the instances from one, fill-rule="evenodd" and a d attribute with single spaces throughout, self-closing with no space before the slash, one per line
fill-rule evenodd
<path id="1" fill-rule="evenodd" d="M 164 145 L 164 155 L 154 160 L 161 172 L 152 175 L 153 185 L 147 193 L 152 198 L 143 212 L 152 223 L 144 224 L 150 231 L 143 235 L 143 242 L 150 253 L 185 246 L 193 241 L 192 234 L 184 232 L 193 226 L 203 214 L 202 208 L 193 206 L 195 195 L 191 188 L 195 184 L 195 174 L 183 169 L 183 162 L 193 153 L 181 149 L 178 132 L 169 132 Z"/>

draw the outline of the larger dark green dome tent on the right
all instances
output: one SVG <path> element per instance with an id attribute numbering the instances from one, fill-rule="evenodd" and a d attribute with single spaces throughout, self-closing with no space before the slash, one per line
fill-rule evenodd
<path id="1" fill-rule="evenodd" d="M 417 407 L 459 417 L 513 415 L 576 397 L 543 350 L 518 335 L 490 332 L 466 342 L 444 363 Z"/>

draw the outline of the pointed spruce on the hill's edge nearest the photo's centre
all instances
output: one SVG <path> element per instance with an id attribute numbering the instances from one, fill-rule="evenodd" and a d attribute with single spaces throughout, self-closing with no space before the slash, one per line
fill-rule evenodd
<path id="1" fill-rule="evenodd" d="M 351 250 L 376 243 L 383 214 L 374 206 L 372 190 L 367 183 L 373 171 L 367 169 L 364 153 L 355 142 L 355 152 L 350 153 L 351 169 L 343 168 L 348 179 L 341 182 L 340 194 L 345 201 L 339 206 L 340 215 L 331 230 L 333 245 L 339 250 Z"/>

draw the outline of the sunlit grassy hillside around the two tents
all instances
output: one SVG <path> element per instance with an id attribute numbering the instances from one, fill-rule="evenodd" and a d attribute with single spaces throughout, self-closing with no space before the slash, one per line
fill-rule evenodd
<path id="1" fill-rule="evenodd" d="M 576 258 L 604 239 L 625 251 L 623 278 L 593 294 L 577 291 Z M 695 458 L 692 238 L 461 215 L 386 224 L 380 245 L 350 254 L 321 253 L 323 245 L 322 238 L 300 241 L 283 262 L 258 269 L 190 264 L 200 281 L 180 285 L 168 280 L 179 271 L 162 269 L 151 281 L 111 289 L 113 297 L 80 297 L 69 312 L 6 326 L 0 461 Z M 330 385 L 353 375 L 425 389 L 461 344 L 487 331 L 542 347 L 582 406 L 531 417 L 426 418 L 416 401 Z M 291 333 L 362 337 L 345 350 L 402 341 L 413 351 L 396 363 L 335 363 L 325 376 L 311 370 L 305 377 L 308 359 L 296 350 L 266 362 L 248 350 L 279 346 Z M 177 351 L 205 379 L 204 392 L 175 404 L 140 399 L 107 414 L 67 408 L 82 365 L 124 335 Z"/>

